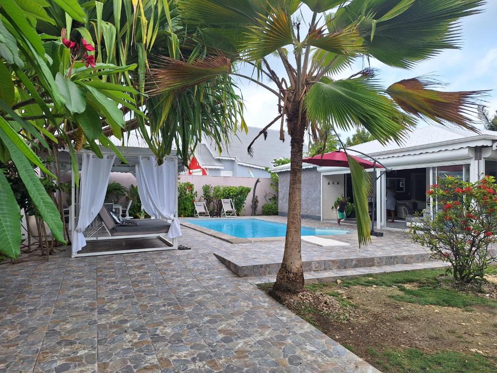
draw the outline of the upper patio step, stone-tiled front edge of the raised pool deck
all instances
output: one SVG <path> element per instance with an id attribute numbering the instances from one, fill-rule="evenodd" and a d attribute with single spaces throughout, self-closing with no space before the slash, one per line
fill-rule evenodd
<path id="1" fill-rule="evenodd" d="M 225 252 L 214 252 L 214 255 L 230 270 L 240 277 L 276 276 L 281 266 L 281 262 L 270 262 L 267 259 L 257 256 L 240 259 L 237 256 Z M 360 258 L 343 257 L 313 261 L 303 261 L 304 272 L 326 272 L 334 270 L 353 269 L 359 270 L 370 267 L 383 267 L 404 264 L 422 264 L 433 262 L 434 259 L 428 253 L 399 254 L 399 255 L 378 255 L 363 256 Z"/>

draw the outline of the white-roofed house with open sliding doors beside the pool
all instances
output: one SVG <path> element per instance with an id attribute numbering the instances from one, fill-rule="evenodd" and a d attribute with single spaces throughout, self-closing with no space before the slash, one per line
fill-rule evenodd
<path id="1" fill-rule="evenodd" d="M 426 190 L 438 176 L 459 176 L 477 181 L 482 175 L 497 175 L 497 132 L 469 130 L 430 125 L 412 131 L 402 144 L 381 145 L 377 140 L 356 145 L 388 168 L 377 169 L 376 227 L 386 227 L 386 188 L 396 190 L 397 216 L 401 221 L 414 211 L 426 207 Z M 288 211 L 289 165 L 271 169 L 280 177 L 279 213 Z M 372 170 L 368 170 L 372 172 Z M 348 168 L 318 167 L 304 164 L 302 174 L 302 215 L 308 218 L 330 220 L 335 217 L 331 208 L 337 197 L 346 195 L 353 201 Z M 429 202 L 429 201 L 428 201 Z"/>

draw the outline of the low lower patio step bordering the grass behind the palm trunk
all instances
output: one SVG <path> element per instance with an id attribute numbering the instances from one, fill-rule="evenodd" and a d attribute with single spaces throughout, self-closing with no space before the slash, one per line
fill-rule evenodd
<path id="1" fill-rule="evenodd" d="M 423 263 L 410 263 L 410 264 L 395 264 L 385 266 L 372 266 L 361 268 L 346 268 L 325 271 L 312 271 L 304 272 L 304 281 L 306 284 L 316 282 L 335 282 L 339 279 L 353 278 L 365 275 L 375 275 L 382 273 L 412 271 L 412 270 L 425 270 L 434 268 L 444 268 L 447 264 L 442 261 L 432 261 Z M 276 276 L 252 276 L 245 277 L 244 280 L 252 284 L 268 283 L 276 281 Z"/>

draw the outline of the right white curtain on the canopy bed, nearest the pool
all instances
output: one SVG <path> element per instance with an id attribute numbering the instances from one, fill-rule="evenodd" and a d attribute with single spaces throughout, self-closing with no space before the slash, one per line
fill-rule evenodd
<path id="1" fill-rule="evenodd" d="M 157 218 L 171 220 L 167 237 L 181 236 L 179 220 L 174 217 L 177 206 L 176 162 L 165 159 L 157 165 L 155 157 L 139 157 L 136 165 L 136 182 L 144 210 Z"/>

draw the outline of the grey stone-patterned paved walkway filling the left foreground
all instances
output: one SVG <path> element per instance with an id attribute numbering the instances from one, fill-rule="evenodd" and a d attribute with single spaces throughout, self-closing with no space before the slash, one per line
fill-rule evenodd
<path id="1" fill-rule="evenodd" d="M 1 265 L 0 373 L 378 372 L 183 234 L 192 250 Z"/>

